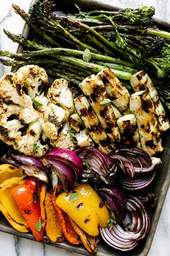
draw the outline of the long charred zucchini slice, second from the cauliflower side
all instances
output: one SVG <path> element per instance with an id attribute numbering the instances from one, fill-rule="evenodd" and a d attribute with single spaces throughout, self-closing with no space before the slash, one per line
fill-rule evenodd
<path id="1" fill-rule="evenodd" d="M 110 105 L 104 106 L 104 100 L 108 99 L 108 95 L 102 77 L 86 77 L 81 82 L 80 88 L 89 99 L 91 107 L 111 141 L 112 148 L 116 148 L 120 143 L 120 132 L 112 107 Z"/>

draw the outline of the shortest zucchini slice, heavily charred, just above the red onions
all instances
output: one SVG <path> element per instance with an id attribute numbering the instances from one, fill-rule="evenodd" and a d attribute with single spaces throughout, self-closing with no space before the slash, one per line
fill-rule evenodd
<path id="1" fill-rule="evenodd" d="M 120 129 L 123 145 L 140 148 L 138 125 L 134 114 L 120 117 L 117 120 L 117 126 Z"/>

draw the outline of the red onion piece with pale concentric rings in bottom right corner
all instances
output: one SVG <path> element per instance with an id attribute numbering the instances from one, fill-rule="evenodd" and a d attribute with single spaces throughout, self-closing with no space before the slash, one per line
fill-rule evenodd
<path id="1" fill-rule="evenodd" d="M 150 217 L 143 202 L 137 197 L 130 196 L 127 200 L 128 213 L 131 214 L 131 223 L 125 225 L 125 221 L 108 228 L 100 229 L 104 242 L 110 247 L 121 251 L 128 251 L 136 247 L 138 240 L 143 239 L 150 228 Z"/>

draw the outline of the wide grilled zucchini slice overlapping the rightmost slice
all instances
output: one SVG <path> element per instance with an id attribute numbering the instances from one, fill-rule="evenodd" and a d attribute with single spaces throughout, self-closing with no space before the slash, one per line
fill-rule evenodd
<path id="1" fill-rule="evenodd" d="M 163 151 L 155 108 L 151 96 L 146 90 L 141 90 L 130 96 L 130 111 L 137 120 L 143 150 L 146 150 L 149 155 L 155 155 Z"/>

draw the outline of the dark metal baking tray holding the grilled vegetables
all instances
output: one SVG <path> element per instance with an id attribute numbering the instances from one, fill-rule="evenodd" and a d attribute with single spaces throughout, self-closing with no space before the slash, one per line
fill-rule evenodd
<path id="1" fill-rule="evenodd" d="M 33 0 L 32 4 L 35 4 L 38 0 Z M 107 10 L 116 10 L 120 9 L 120 7 L 114 6 L 114 1 L 110 1 L 109 4 L 104 4 L 104 0 L 58 0 L 58 11 L 63 11 L 65 14 L 75 8 L 74 4 L 78 4 L 81 9 L 107 9 Z M 31 6 L 32 6 L 31 4 Z M 164 29 L 169 29 L 170 24 L 167 22 L 164 22 L 164 20 L 159 20 L 158 18 L 154 17 L 154 21 L 158 23 L 158 25 L 161 25 L 164 27 Z M 22 35 L 24 37 L 29 36 L 29 26 L 27 24 L 24 25 Z M 17 48 L 17 52 L 22 51 L 22 46 L 19 46 Z M 4 143 L 3 143 L 4 144 Z M 3 145 L 4 146 L 4 145 Z M 3 148 L 3 147 L 1 147 Z M 0 152 L 0 155 L 4 152 Z M 114 248 L 111 248 L 107 246 L 104 242 L 102 242 L 102 239 L 100 239 L 99 246 L 98 246 L 98 252 L 97 256 L 146 256 L 148 255 L 149 249 L 151 248 L 151 243 L 153 241 L 153 236 L 156 231 L 156 226 L 158 224 L 159 217 L 161 215 L 161 210 L 164 205 L 164 200 L 166 197 L 166 193 L 169 188 L 170 183 L 170 136 L 169 132 L 165 135 L 165 150 L 162 154 L 162 164 L 160 168 L 157 171 L 157 176 L 155 180 L 155 184 L 153 186 L 153 192 L 155 193 L 156 197 L 158 197 L 158 202 L 156 205 L 156 208 L 151 211 L 151 229 L 143 241 L 141 241 L 135 249 L 133 249 L 130 252 L 120 252 L 115 250 Z M 16 231 L 15 229 L 10 226 L 9 223 L 7 223 L 4 216 L 1 216 L 0 218 L 0 231 L 13 234 L 15 236 L 20 236 L 26 239 L 35 240 L 32 234 L 24 234 L 20 233 L 19 231 Z M 53 247 L 58 247 L 62 249 L 66 249 L 70 252 L 78 252 L 82 255 L 91 255 L 91 253 L 87 252 L 86 249 L 82 246 L 74 246 L 72 244 L 69 244 L 68 242 L 63 243 L 49 243 L 49 242 L 42 242 L 44 244 L 50 244 Z"/>

